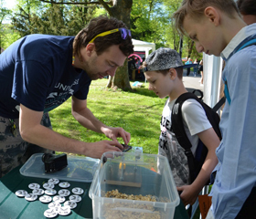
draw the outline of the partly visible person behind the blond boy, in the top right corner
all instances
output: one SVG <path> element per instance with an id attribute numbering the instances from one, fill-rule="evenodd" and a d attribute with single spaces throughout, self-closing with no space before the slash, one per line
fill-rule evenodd
<path id="1" fill-rule="evenodd" d="M 238 0 L 237 5 L 239 7 L 242 19 L 247 25 L 256 23 L 256 1 L 255 0 Z"/>

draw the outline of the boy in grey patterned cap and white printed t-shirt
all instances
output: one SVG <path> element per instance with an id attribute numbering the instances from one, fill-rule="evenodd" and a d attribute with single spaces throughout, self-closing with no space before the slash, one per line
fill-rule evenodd
<path id="1" fill-rule="evenodd" d="M 197 175 L 196 180 L 189 184 L 187 156 L 171 130 L 171 115 L 176 99 L 187 92 L 182 77 L 184 66 L 179 54 L 171 48 L 158 48 L 144 61 L 144 75 L 149 88 L 160 98 L 168 96 L 160 122 L 158 154 L 164 155 L 170 164 L 180 198 L 185 205 L 193 204 L 198 193 L 208 182 L 210 173 L 218 163 L 215 154 L 219 146 L 219 137 L 208 121 L 205 110 L 196 99 L 187 99 L 182 105 L 182 118 L 187 137 L 192 144 L 191 151 L 195 155 L 197 142 L 200 139 L 208 148 L 208 155 Z"/>

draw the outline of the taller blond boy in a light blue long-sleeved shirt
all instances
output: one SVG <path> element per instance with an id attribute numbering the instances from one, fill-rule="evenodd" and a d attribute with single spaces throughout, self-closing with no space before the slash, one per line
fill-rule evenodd
<path id="1" fill-rule="evenodd" d="M 174 15 L 176 28 L 195 41 L 197 51 L 221 56 L 226 104 L 222 141 L 208 218 L 256 216 L 256 25 L 246 26 L 233 0 L 184 0 Z"/>

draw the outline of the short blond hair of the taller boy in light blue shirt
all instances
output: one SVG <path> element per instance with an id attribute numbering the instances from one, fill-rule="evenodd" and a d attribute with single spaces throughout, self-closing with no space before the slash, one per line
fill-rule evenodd
<path id="1" fill-rule="evenodd" d="M 173 16 L 178 32 L 186 35 L 183 27 L 185 16 L 189 15 L 196 21 L 199 21 L 204 16 L 204 11 L 208 6 L 218 8 L 230 18 L 234 18 L 236 14 L 240 15 L 238 7 L 233 0 L 183 0 L 182 5 Z"/>

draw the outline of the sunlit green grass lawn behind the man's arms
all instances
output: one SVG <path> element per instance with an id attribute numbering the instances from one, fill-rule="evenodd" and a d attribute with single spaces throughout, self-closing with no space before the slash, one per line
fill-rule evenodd
<path id="1" fill-rule="evenodd" d="M 96 118 L 108 126 L 122 127 L 131 133 L 130 145 L 143 147 L 144 153 L 157 153 L 160 120 L 165 99 L 143 88 L 131 92 L 107 89 L 108 79 L 91 82 L 88 107 Z M 132 84 L 133 82 L 131 82 Z M 49 113 L 53 130 L 79 141 L 109 140 L 105 135 L 83 128 L 71 115 L 71 99 Z M 123 139 L 120 139 L 123 143 Z"/>

